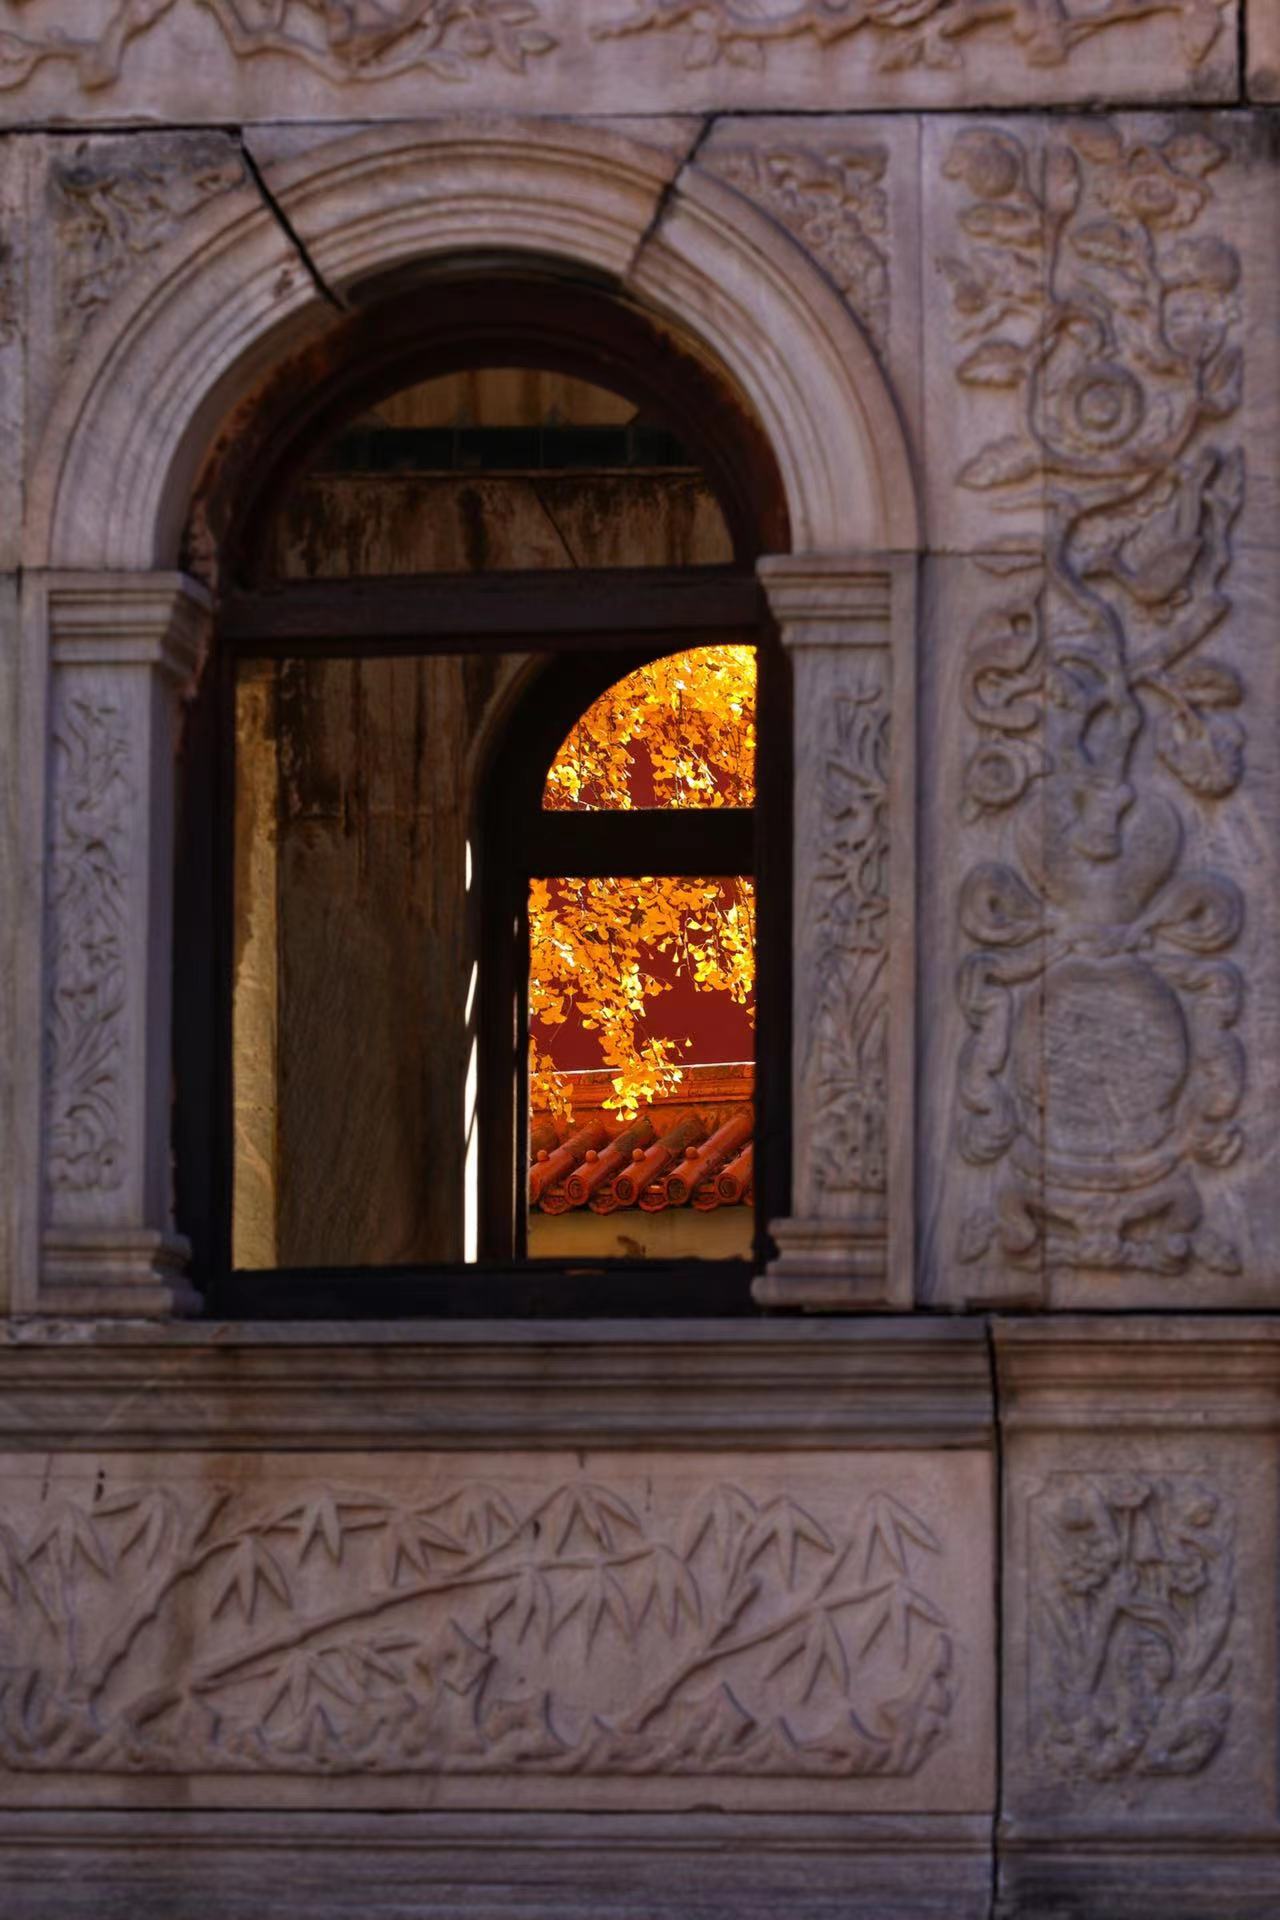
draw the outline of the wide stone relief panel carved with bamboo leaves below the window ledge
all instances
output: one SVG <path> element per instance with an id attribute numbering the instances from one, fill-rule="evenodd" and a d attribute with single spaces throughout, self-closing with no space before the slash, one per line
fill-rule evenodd
<path id="1" fill-rule="evenodd" d="M 0 1789 L 979 1811 L 988 1555 L 979 1455 L 12 1459 Z"/>

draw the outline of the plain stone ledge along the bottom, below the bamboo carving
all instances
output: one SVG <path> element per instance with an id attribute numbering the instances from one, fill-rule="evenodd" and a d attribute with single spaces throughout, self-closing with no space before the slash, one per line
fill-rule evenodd
<path id="1" fill-rule="evenodd" d="M 990 1818 L 0 1812 L 0 1874 L 6 1920 L 986 1920 Z"/>

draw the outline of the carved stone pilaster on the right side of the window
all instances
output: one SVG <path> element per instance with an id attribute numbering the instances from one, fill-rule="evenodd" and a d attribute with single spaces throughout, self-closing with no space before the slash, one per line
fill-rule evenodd
<path id="1" fill-rule="evenodd" d="M 865 557 L 760 566 L 794 676 L 791 1217 L 762 1306 L 889 1298 L 890 578 Z"/>

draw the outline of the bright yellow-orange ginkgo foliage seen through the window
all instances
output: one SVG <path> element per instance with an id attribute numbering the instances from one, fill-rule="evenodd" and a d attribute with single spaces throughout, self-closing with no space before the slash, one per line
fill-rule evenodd
<path id="1" fill-rule="evenodd" d="M 549 808 L 750 806 L 756 781 L 752 647 L 668 655 L 608 687 L 547 774 Z M 533 879 L 530 1100 L 568 1117 L 555 1031 L 574 1016 L 610 1069 L 622 1119 L 679 1089 L 691 1037 L 651 1031 L 652 1002 L 687 981 L 754 1006 L 754 889 L 733 877 Z"/>

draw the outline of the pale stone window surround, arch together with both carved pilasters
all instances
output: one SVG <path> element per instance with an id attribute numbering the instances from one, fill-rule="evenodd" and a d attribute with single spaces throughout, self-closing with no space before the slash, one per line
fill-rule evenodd
<path id="1" fill-rule="evenodd" d="M 825 278 L 735 192 L 599 129 L 532 123 L 514 138 L 518 173 L 510 125 L 367 131 L 290 161 L 276 196 L 328 286 L 453 252 L 472 230 L 516 257 L 535 248 L 604 267 L 683 324 L 756 405 L 796 545 L 766 557 L 760 576 L 796 684 L 802 933 L 793 1219 L 777 1223 L 781 1256 L 756 1294 L 770 1306 L 910 1306 L 917 516 L 892 396 Z M 77 365 L 36 461 L 46 564 L 33 576 L 25 660 L 44 751 L 25 774 L 38 793 L 29 820 L 42 822 L 29 851 L 46 876 L 31 968 L 44 1018 L 42 1043 L 19 1062 L 19 1096 L 25 1069 L 42 1156 L 19 1313 L 198 1306 L 171 1221 L 171 866 L 178 701 L 215 609 L 196 580 L 150 563 L 177 551 L 209 420 L 261 376 L 282 336 L 317 324 L 315 292 L 290 292 L 273 273 L 280 244 L 259 202 L 248 211 L 226 196 L 196 215 Z M 178 340 L 188 353 L 175 372 Z M 867 874 L 881 877 L 860 897 Z M 808 1150 L 819 1129 L 804 1117 L 819 1112 L 827 1137 L 839 1116 L 841 1164 Z"/>

